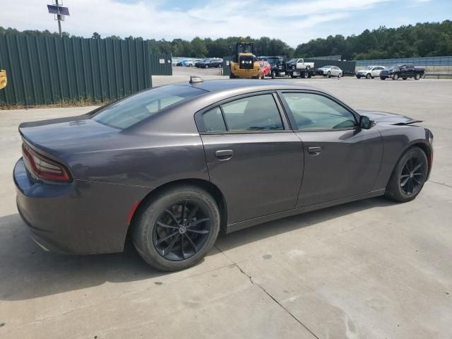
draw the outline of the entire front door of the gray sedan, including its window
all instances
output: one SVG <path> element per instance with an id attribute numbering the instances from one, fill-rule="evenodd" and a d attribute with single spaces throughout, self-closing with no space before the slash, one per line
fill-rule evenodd
<path id="1" fill-rule="evenodd" d="M 383 155 L 379 131 L 359 128 L 355 113 L 323 93 L 280 96 L 304 148 L 297 207 L 372 191 Z"/>

